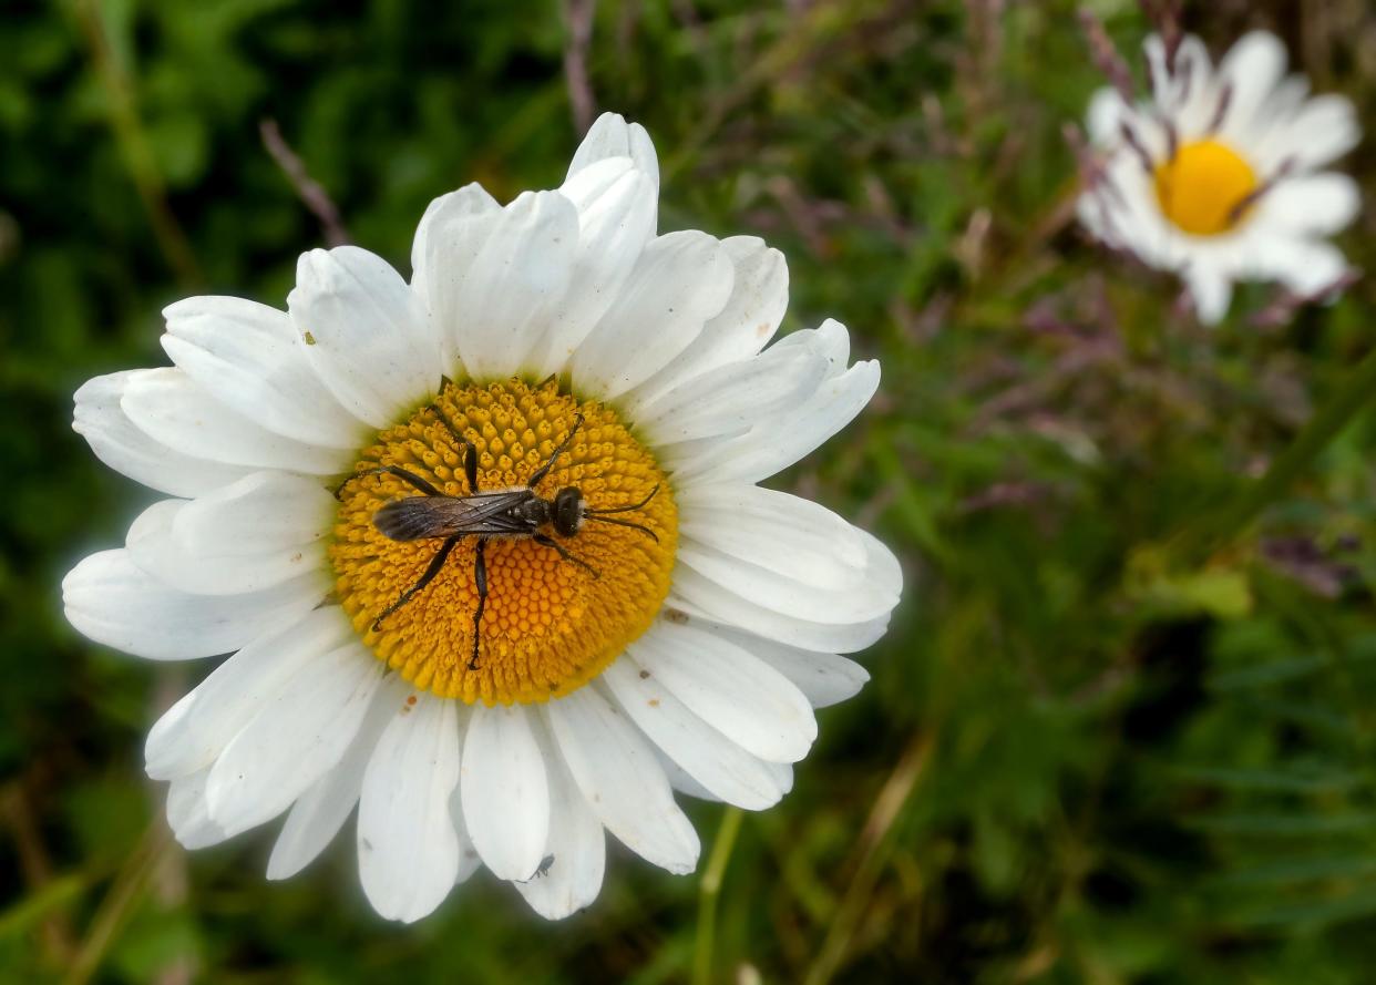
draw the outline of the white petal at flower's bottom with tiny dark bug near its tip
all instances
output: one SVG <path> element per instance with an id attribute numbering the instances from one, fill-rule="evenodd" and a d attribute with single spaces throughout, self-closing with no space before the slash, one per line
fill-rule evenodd
<path id="1" fill-rule="evenodd" d="M 517 882 L 517 891 L 546 920 L 561 920 L 589 905 L 601 891 L 607 835 L 555 750 L 542 719 L 533 719 L 549 770 L 549 841 L 544 875 Z"/>

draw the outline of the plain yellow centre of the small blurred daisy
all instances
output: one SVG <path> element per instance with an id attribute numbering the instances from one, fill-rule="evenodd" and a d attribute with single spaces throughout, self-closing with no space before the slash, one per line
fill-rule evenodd
<path id="1" fill-rule="evenodd" d="M 1256 187 L 1251 165 L 1218 140 L 1187 143 L 1156 168 L 1161 212 L 1197 237 L 1214 237 L 1237 226 Z"/>

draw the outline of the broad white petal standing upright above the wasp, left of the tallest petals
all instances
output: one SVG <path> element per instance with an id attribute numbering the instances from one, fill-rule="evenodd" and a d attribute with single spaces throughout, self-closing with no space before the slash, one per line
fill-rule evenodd
<path id="1" fill-rule="evenodd" d="M 483 217 L 486 221 L 486 216 Z M 568 289 L 578 210 L 557 191 L 527 191 L 490 223 L 466 268 L 433 271 L 432 311 L 479 381 L 520 374 Z"/>

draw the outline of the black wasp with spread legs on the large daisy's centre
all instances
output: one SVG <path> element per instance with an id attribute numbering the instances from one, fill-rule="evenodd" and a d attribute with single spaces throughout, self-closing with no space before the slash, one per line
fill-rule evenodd
<path id="1" fill-rule="evenodd" d="M 454 428 L 449 417 L 444 415 L 444 411 L 436 404 L 431 404 L 429 411 L 444 425 L 444 429 L 462 451 L 464 477 L 468 480 L 469 495 L 444 495 L 425 479 L 400 465 L 383 465 L 381 468 L 366 469 L 355 473 L 344 483 L 347 486 L 354 479 L 381 473 L 396 476 L 420 491 L 420 495 L 394 499 L 385 504 L 373 515 L 373 526 L 392 541 L 443 539 L 439 550 L 435 552 L 435 557 L 431 559 L 429 565 L 416 585 L 406 589 L 395 603 L 383 609 L 381 615 L 373 620 L 373 631 L 380 630 L 381 622 L 387 616 L 402 608 L 402 605 L 435 581 L 435 576 L 443 570 L 444 561 L 449 560 L 450 553 L 454 550 L 454 545 L 465 537 L 476 537 L 473 583 L 477 586 L 477 609 L 473 612 L 473 653 L 468 662 L 472 670 L 477 667 L 477 630 L 483 622 L 483 608 L 487 605 L 487 561 L 484 560 L 484 550 L 488 541 L 534 541 L 542 548 L 559 552 L 563 560 L 585 568 L 593 578 L 597 578 L 599 572 L 590 564 L 575 557 L 564 545 L 550 537 L 546 528 L 560 538 L 568 539 L 578 534 L 588 520 L 596 520 L 597 523 L 614 523 L 619 527 L 630 527 L 648 534 L 655 541 L 659 539 L 655 531 L 644 524 L 632 523 L 630 520 L 614 520 L 605 516 L 607 513 L 630 513 L 632 510 L 641 509 L 655 498 L 659 486 L 655 486 L 649 491 L 649 495 L 637 504 L 614 506 L 611 509 L 592 509 L 577 486 L 564 486 L 555 492 L 552 499 L 535 491 L 535 487 L 539 486 L 541 480 L 555 466 L 559 455 L 574 440 L 574 435 L 578 433 L 578 428 L 583 424 L 582 414 L 574 417 L 574 426 L 568 429 L 564 440 L 550 453 L 545 464 L 535 469 L 524 487 L 482 492 L 477 488 L 477 448 L 458 433 L 458 429 Z M 336 497 L 344 491 L 344 486 L 340 486 Z"/>

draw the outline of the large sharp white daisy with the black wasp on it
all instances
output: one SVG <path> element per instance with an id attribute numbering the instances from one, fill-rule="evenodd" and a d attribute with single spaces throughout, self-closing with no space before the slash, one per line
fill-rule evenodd
<path id="1" fill-rule="evenodd" d="M 147 739 L 184 846 L 285 814 L 282 879 L 356 805 L 383 916 L 486 865 L 555 919 L 597 896 L 604 831 L 694 869 L 674 791 L 788 791 L 901 575 L 758 483 L 879 367 L 832 321 L 766 348 L 782 255 L 656 235 L 658 195 L 645 131 L 604 116 L 557 190 L 432 202 L 410 283 L 312 250 L 288 311 L 179 301 L 172 367 L 77 391 L 95 454 L 169 498 L 66 576 L 67 619 L 151 660 L 231 653 Z"/>

